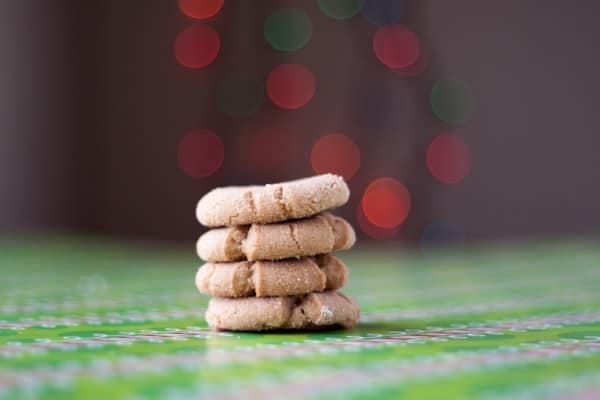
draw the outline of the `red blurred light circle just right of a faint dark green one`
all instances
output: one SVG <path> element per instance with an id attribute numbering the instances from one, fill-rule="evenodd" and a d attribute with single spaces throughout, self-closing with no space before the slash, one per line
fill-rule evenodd
<path id="1" fill-rule="evenodd" d="M 280 64 L 267 77 L 267 94 L 271 101 L 288 110 L 300 108 L 312 99 L 315 77 L 300 64 Z"/>

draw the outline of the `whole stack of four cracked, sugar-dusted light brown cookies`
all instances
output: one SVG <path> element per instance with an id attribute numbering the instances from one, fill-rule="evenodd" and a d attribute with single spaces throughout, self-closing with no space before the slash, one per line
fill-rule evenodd
<path id="1" fill-rule="evenodd" d="M 207 263 L 196 286 L 214 296 L 208 324 L 233 331 L 354 326 L 358 305 L 337 291 L 348 270 L 329 253 L 349 249 L 356 236 L 327 212 L 349 196 L 343 178 L 325 174 L 217 188 L 200 199 L 198 220 L 215 228 L 197 243 Z"/>

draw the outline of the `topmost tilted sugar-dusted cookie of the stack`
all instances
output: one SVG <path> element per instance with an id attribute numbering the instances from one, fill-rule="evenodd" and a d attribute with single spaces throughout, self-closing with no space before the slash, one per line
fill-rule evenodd
<path id="1" fill-rule="evenodd" d="M 333 174 L 265 186 L 230 186 L 205 194 L 196 217 L 208 227 L 267 224 L 310 217 L 345 204 L 349 197 L 344 179 Z"/>

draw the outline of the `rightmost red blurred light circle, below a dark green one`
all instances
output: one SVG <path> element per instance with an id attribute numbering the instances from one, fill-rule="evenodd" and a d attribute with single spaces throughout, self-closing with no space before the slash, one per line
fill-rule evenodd
<path id="1" fill-rule="evenodd" d="M 458 183 L 471 171 L 471 151 L 457 135 L 439 135 L 427 147 L 427 167 L 440 182 Z"/>

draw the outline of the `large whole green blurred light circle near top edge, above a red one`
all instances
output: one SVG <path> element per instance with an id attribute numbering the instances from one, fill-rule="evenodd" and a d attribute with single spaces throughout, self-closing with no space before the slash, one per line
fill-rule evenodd
<path id="1" fill-rule="evenodd" d="M 265 20 L 265 39 L 279 51 L 297 51 L 312 36 L 312 22 L 305 12 L 294 8 L 274 11 Z"/>

